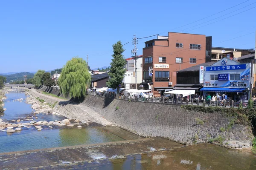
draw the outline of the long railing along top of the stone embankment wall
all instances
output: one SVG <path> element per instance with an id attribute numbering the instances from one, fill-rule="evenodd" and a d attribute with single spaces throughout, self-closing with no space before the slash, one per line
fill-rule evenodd
<path id="1" fill-rule="evenodd" d="M 242 104 L 242 107 L 247 107 L 248 102 L 235 102 L 233 100 L 227 100 L 227 101 L 205 101 L 204 100 L 186 100 L 187 98 L 165 98 L 165 97 L 158 97 L 158 98 L 143 98 L 143 97 L 134 97 L 134 96 L 124 96 L 124 95 L 115 95 L 113 93 L 104 93 L 104 94 L 98 94 L 93 91 L 87 91 L 87 95 L 94 95 L 94 96 L 102 96 L 106 98 L 118 98 L 121 100 L 127 100 L 127 101 L 139 101 L 139 102 L 152 102 L 152 103 L 165 103 L 165 104 L 180 104 L 180 105 L 198 105 L 198 106 L 215 106 L 215 107 L 239 107 L 240 103 Z M 253 107 L 256 107 L 256 102 L 253 103 Z"/>

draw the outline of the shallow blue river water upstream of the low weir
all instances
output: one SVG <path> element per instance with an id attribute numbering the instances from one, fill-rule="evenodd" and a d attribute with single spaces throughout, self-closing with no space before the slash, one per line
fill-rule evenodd
<path id="1" fill-rule="evenodd" d="M 26 123 L 27 115 L 31 116 L 32 108 L 26 104 L 26 95 L 23 92 L 10 92 L 6 94 L 4 108 L 7 110 L 0 118 L 3 121 L 24 119 L 19 123 Z M 36 115 L 35 121 L 55 121 L 63 120 L 64 116 L 40 113 Z M 0 130 L 0 153 L 35 150 L 50 147 L 66 147 L 81 144 L 97 144 L 111 141 L 124 141 L 137 139 L 139 136 L 129 133 L 117 127 L 103 127 L 99 124 L 91 123 L 89 126 L 82 125 L 81 129 L 74 127 L 43 126 L 38 131 L 35 127 L 22 127 L 20 132 L 6 133 Z"/>

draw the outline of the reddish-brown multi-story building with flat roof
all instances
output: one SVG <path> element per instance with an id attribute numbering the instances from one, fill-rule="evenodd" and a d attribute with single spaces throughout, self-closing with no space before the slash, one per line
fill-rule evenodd
<path id="1" fill-rule="evenodd" d="M 200 63 L 211 62 L 212 37 L 169 32 L 168 36 L 145 42 L 143 48 L 143 83 L 151 84 L 154 96 L 158 90 L 176 84 L 176 72 Z"/>

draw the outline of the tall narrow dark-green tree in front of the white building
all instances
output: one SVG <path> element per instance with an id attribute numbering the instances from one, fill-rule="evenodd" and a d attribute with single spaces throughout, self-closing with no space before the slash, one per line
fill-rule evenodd
<path id="1" fill-rule="evenodd" d="M 122 47 L 121 41 L 118 41 L 117 43 L 113 44 L 113 55 L 112 55 L 112 62 L 110 63 L 111 68 L 110 72 L 108 72 L 108 75 L 110 79 L 107 82 L 107 86 L 116 89 L 117 93 L 119 94 L 119 84 L 122 83 L 122 80 L 125 75 L 125 58 L 122 55 L 122 53 L 125 51 Z"/>

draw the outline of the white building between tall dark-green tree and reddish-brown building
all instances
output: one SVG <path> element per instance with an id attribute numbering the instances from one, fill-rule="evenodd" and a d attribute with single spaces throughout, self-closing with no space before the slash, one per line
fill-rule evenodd
<path id="1" fill-rule="evenodd" d="M 143 56 L 137 56 L 137 89 L 139 89 L 140 83 L 142 82 L 142 60 Z M 122 83 L 125 84 L 125 89 L 136 89 L 135 88 L 135 60 L 134 58 L 126 58 L 125 64 L 126 72 Z"/>

